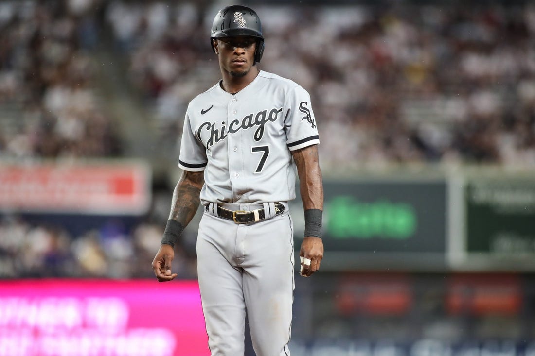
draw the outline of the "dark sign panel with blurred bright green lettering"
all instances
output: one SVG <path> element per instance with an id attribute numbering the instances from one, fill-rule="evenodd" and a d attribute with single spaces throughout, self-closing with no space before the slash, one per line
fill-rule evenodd
<path id="1" fill-rule="evenodd" d="M 325 248 L 358 252 L 446 250 L 446 183 L 325 184 Z"/>

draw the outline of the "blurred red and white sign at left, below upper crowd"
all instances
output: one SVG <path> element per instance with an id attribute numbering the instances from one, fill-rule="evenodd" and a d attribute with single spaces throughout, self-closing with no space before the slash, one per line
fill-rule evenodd
<path id="1" fill-rule="evenodd" d="M 143 214 L 150 176 L 138 161 L 0 163 L 0 211 Z"/>

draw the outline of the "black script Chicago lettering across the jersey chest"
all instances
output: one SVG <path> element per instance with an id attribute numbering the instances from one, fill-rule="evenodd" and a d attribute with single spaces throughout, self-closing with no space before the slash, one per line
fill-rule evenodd
<path id="1" fill-rule="evenodd" d="M 246 115 L 241 120 L 234 119 L 228 124 L 228 126 L 225 124 L 225 122 L 221 122 L 220 127 L 216 127 L 215 122 L 203 122 L 201 123 L 201 126 L 199 126 L 199 128 L 197 129 L 197 138 L 202 142 L 201 134 L 203 133 L 203 131 L 208 131 L 210 133 L 210 138 L 208 138 L 205 143 L 206 148 L 208 149 L 213 144 L 218 143 L 221 140 L 225 140 L 228 134 L 234 134 L 239 130 L 258 126 L 254 135 L 255 141 L 258 142 L 262 139 L 262 136 L 264 136 L 265 124 L 270 121 L 277 121 L 277 117 L 279 116 L 280 112 L 282 112 L 282 107 L 280 109 L 271 109 L 269 114 L 268 110 L 259 111 L 256 114 L 252 113 Z"/>

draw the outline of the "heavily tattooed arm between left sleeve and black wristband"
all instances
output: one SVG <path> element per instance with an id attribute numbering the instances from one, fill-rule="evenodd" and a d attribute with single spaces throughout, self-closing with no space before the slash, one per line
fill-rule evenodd
<path id="1" fill-rule="evenodd" d="M 204 184 L 204 172 L 184 171 L 174 188 L 169 219 L 187 226 L 201 203 L 199 194 Z"/>

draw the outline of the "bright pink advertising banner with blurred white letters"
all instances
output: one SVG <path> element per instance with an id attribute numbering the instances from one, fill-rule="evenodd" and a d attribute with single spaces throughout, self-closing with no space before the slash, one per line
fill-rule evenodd
<path id="1" fill-rule="evenodd" d="M 0 356 L 209 354 L 196 281 L 0 281 Z"/>

